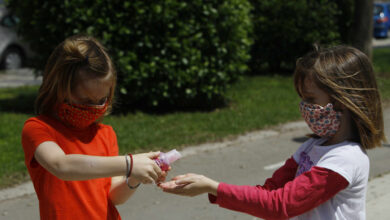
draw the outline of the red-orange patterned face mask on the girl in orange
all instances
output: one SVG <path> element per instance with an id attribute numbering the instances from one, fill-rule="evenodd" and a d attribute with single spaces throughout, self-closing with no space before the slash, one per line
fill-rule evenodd
<path id="1" fill-rule="evenodd" d="M 62 103 L 57 115 L 66 124 L 75 128 L 87 128 L 107 111 L 108 102 L 102 105 Z"/>

